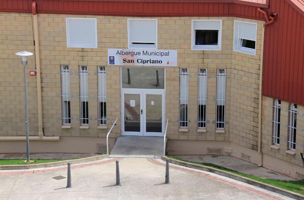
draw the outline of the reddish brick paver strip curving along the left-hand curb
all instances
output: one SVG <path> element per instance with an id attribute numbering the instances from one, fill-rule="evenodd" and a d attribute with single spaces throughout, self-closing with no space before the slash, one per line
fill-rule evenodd
<path id="1" fill-rule="evenodd" d="M 95 163 L 88 163 L 88 164 L 80 164 L 80 165 L 71 165 L 72 169 L 76 168 L 81 168 L 81 167 L 88 167 L 88 166 L 94 166 L 94 165 L 101 165 L 101 164 L 107 164 L 114 162 L 116 160 L 121 160 L 122 158 L 114 158 L 111 160 L 102 160 L 100 162 L 95 162 Z M 0 176 L 1 175 L 23 175 L 23 174 L 40 174 L 40 173 L 47 173 L 47 172 L 54 172 L 54 171 L 64 171 L 67 170 L 67 167 L 57 167 L 57 168 L 52 168 L 52 169 L 40 169 L 40 170 L 30 170 L 30 171 L 6 171 L 6 172 L 1 172 L 0 171 Z"/>

